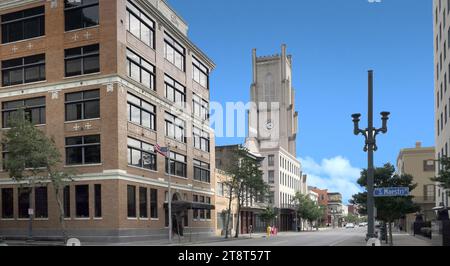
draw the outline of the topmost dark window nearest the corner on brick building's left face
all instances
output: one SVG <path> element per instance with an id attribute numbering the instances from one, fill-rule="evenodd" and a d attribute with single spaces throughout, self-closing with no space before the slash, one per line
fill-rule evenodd
<path id="1" fill-rule="evenodd" d="M 98 25 L 98 0 L 65 0 L 64 4 L 66 31 Z"/>

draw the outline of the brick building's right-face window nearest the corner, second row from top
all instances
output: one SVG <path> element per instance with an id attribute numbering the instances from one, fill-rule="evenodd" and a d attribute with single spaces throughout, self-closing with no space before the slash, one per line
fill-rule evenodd
<path id="1" fill-rule="evenodd" d="M 130 49 L 127 49 L 127 74 L 145 87 L 156 90 L 155 67 Z"/>

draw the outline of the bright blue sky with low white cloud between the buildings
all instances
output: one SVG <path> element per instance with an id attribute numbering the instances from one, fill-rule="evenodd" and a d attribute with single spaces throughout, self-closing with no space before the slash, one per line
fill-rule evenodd
<path id="1" fill-rule="evenodd" d="M 367 70 L 375 71 L 375 121 L 392 113 L 378 138 L 375 162 L 395 163 L 416 141 L 434 145 L 431 1 L 169 0 L 188 22 L 189 36 L 217 64 L 211 100 L 248 101 L 251 49 L 259 55 L 288 45 L 299 111 L 298 157 L 310 183 L 348 199 L 366 167 L 363 138 L 350 115 L 366 125 Z M 243 139 L 218 138 L 217 144 Z"/>

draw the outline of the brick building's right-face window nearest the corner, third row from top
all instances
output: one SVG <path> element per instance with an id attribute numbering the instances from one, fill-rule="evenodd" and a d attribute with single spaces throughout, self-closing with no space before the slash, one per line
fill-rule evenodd
<path id="1" fill-rule="evenodd" d="M 127 99 L 128 121 L 156 130 L 156 107 L 132 94 Z"/>

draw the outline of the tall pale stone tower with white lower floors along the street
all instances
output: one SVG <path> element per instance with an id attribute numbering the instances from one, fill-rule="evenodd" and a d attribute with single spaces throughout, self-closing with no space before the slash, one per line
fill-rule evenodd
<path id="1" fill-rule="evenodd" d="M 296 221 L 292 199 L 307 193 L 306 175 L 297 160 L 298 113 L 292 88 L 292 57 L 286 54 L 257 57 L 253 49 L 252 108 L 248 112 L 247 148 L 265 160 L 264 180 L 271 187 L 271 203 L 278 211 L 281 231 L 301 226 Z"/>

